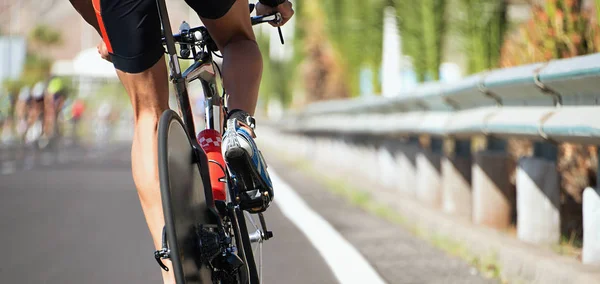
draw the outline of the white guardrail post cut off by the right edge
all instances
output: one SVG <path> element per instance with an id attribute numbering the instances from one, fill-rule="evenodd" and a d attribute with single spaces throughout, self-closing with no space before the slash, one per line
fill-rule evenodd
<path id="1" fill-rule="evenodd" d="M 600 194 L 593 188 L 583 191 L 582 262 L 600 266 Z"/>

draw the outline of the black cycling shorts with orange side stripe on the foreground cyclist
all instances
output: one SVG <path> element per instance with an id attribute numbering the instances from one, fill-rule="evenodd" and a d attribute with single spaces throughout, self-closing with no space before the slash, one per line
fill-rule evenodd
<path id="1" fill-rule="evenodd" d="M 115 68 L 140 73 L 164 55 L 156 0 L 91 0 Z M 236 0 L 185 0 L 200 17 L 223 17 Z"/>

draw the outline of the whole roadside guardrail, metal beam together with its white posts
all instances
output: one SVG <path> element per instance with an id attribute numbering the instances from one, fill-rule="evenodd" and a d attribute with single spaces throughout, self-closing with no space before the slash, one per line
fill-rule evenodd
<path id="1" fill-rule="evenodd" d="M 324 169 L 385 184 L 476 225 L 506 229 L 516 212 L 519 240 L 554 245 L 561 235 L 555 144 L 600 145 L 600 54 L 428 83 L 394 98 L 316 103 L 277 124 L 292 134 L 278 133 L 287 139 L 281 144 Z M 415 139 L 422 134 L 430 145 Z M 481 134 L 485 146 L 471 139 Z M 505 138 L 536 142 L 517 162 L 514 191 Z M 600 264 L 600 188 L 585 189 L 583 204 L 582 262 Z"/>

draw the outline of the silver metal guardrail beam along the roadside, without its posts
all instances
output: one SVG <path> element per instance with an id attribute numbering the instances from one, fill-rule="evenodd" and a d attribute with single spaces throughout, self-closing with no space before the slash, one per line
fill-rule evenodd
<path id="1" fill-rule="evenodd" d="M 484 72 L 456 83 L 427 83 L 394 98 L 315 103 L 282 127 L 599 144 L 599 114 L 600 54 L 593 54 Z"/>

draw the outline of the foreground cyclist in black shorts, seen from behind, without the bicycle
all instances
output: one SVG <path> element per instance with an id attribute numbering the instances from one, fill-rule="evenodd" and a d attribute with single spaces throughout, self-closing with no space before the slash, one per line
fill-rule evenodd
<path id="1" fill-rule="evenodd" d="M 86 22 L 103 38 L 98 51 L 110 60 L 133 105 L 133 180 L 156 249 L 164 226 L 158 178 L 158 121 L 168 109 L 168 75 L 161 45 L 161 26 L 155 0 L 70 0 Z M 272 191 L 266 166 L 253 138 L 253 118 L 262 74 L 262 58 L 250 23 L 247 0 L 185 0 L 200 16 L 221 50 L 223 79 L 229 94 L 228 132 L 223 152 L 243 148 Z M 260 0 L 258 15 L 281 13 L 285 24 L 294 11 L 288 0 Z M 236 149 L 237 150 L 237 149 Z M 234 151 L 232 151 L 234 152 Z M 233 173 L 235 174 L 235 173 Z M 165 282 L 174 282 L 163 272 Z"/>

